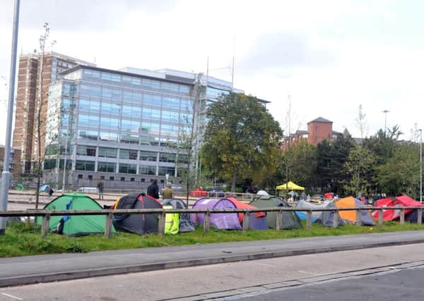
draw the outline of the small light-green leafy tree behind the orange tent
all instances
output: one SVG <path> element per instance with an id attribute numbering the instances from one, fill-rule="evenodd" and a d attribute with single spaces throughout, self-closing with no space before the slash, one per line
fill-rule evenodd
<path id="1" fill-rule="evenodd" d="M 374 168 L 375 156 L 370 149 L 353 147 L 343 168 L 348 176 L 342 181 L 344 191 L 353 195 L 367 193 L 372 187 Z"/>

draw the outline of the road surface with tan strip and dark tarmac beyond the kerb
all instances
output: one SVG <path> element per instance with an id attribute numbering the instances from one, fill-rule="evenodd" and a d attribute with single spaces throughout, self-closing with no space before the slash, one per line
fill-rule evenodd
<path id="1" fill-rule="evenodd" d="M 1 288 L 0 300 L 422 300 L 424 270 L 407 268 L 423 258 L 424 244 L 308 254 Z"/>

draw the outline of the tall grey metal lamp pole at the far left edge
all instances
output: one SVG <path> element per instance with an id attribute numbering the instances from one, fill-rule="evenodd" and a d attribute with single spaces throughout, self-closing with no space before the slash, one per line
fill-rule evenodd
<path id="1" fill-rule="evenodd" d="M 4 145 L 3 172 L 1 173 L 0 188 L 0 211 L 7 211 L 8 185 L 10 178 L 9 160 L 11 155 L 11 137 L 12 137 L 12 119 L 13 119 L 13 100 L 15 99 L 15 77 L 16 77 L 16 54 L 18 47 L 18 28 L 19 28 L 19 4 L 20 0 L 15 0 L 13 10 L 13 35 L 12 35 L 12 53 L 11 53 L 11 75 L 9 77 L 9 93 L 7 107 L 6 123 L 6 144 Z M 6 217 L 0 217 L 0 235 L 6 231 Z"/>

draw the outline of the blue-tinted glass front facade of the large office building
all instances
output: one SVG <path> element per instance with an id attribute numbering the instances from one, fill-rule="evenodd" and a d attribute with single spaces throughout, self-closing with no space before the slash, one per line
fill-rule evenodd
<path id="1" fill-rule="evenodd" d="M 192 84 L 82 66 L 54 85 L 49 102 L 61 102 L 59 126 L 73 133 L 73 170 L 176 174 L 169 145 L 177 142 L 179 123 L 193 117 Z"/>

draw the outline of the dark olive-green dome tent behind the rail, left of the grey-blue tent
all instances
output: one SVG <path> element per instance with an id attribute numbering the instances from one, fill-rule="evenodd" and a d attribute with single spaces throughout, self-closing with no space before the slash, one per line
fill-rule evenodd
<path id="1" fill-rule="evenodd" d="M 273 197 L 272 195 L 261 195 L 261 197 L 256 197 L 249 204 L 258 208 L 290 207 L 283 199 Z M 269 228 L 276 228 L 276 218 L 276 211 L 266 213 L 266 223 L 268 223 Z M 302 224 L 294 211 L 283 211 L 281 227 L 283 229 L 300 229 L 302 228 Z"/>

